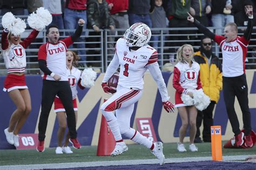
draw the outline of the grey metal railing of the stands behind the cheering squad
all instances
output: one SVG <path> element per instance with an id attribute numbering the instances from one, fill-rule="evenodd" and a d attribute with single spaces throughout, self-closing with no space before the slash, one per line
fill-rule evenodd
<path id="1" fill-rule="evenodd" d="M 214 27 L 209 27 L 209 29 L 213 32 L 216 30 Z M 27 37 L 31 31 L 32 30 L 26 30 L 21 38 L 23 39 Z M 44 44 L 47 40 L 45 31 L 46 30 L 41 31 L 36 40 L 32 42 L 28 49 L 26 49 L 26 74 L 41 74 L 38 68 L 37 52 L 39 46 Z M 60 39 L 63 39 L 68 37 L 69 32 L 74 32 L 75 30 L 59 31 L 61 35 Z M 197 51 L 200 47 L 200 37 L 203 36 L 203 34 L 198 33 L 198 30 L 195 27 L 151 29 L 151 31 L 153 32 L 152 36 L 159 36 L 159 40 L 151 40 L 149 44 L 152 45 L 153 42 L 158 42 L 158 46 L 155 46 L 154 48 L 158 50 L 158 62 L 161 70 L 164 69 L 165 63 L 175 63 L 176 51 L 182 44 L 191 44 L 193 45 L 194 50 Z M 154 33 L 155 31 L 158 31 L 158 33 Z M 177 33 L 177 31 L 181 33 Z M 182 31 L 189 33 L 182 33 Z M 255 33 L 252 33 L 252 39 L 248 46 L 246 68 L 256 68 L 256 52 L 254 52 L 254 49 L 256 49 L 256 27 L 254 28 L 254 31 Z M 86 58 L 86 60 L 79 61 L 78 68 L 84 69 L 85 67 L 93 67 L 93 69 L 98 72 L 105 72 L 107 65 L 109 65 L 114 54 L 114 44 L 118 38 L 123 36 L 124 32 L 124 29 L 116 29 L 114 32 L 111 32 L 110 30 L 100 30 L 100 32 L 96 34 L 94 30 L 84 29 L 81 36 L 82 41 L 75 42 L 74 45 L 69 48 L 72 51 L 78 52 L 78 54 L 79 52 L 84 53 L 80 55 L 80 58 Z M 84 44 L 85 48 L 79 48 L 79 44 Z M 212 48 L 213 53 L 220 56 L 221 59 L 219 46 L 214 43 Z M 6 74 L 2 57 L 0 57 L 0 74 Z"/>

